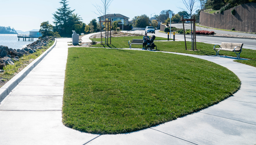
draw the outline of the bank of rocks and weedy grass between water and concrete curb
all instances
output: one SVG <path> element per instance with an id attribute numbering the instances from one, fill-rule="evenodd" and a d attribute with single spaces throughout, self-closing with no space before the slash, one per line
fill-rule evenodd
<path id="1" fill-rule="evenodd" d="M 0 87 L 6 84 L 16 74 L 28 66 L 34 59 L 44 53 L 53 45 L 55 37 L 44 37 L 37 40 L 27 47 L 16 50 L 9 49 L 7 46 L 0 46 Z M 5 56 L 4 53 L 6 54 Z"/>

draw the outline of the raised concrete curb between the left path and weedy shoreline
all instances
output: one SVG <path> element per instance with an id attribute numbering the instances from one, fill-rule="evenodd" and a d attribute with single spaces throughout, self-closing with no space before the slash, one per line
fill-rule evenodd
<path id="1" fill-rule="evenodd" d="M 43 54 L 41 54 L 38 58 L 32 61 L 27 67 L 25 67 L 22 71 L 16 74 L 12 79 L 10 79 L 0 88 L 0 103 L 7 95 L 10 94 L 10 92 L 20 83 L 20 81 L 22 81 L 23 78 L 25 78 L 28 73 L 39 64 L 41 60 L 43 60 L 43 58 L 55 47 L 56 43 L 57 38 L 55 38 L 55 42 L 50 48 L 48 48 Z"/>

